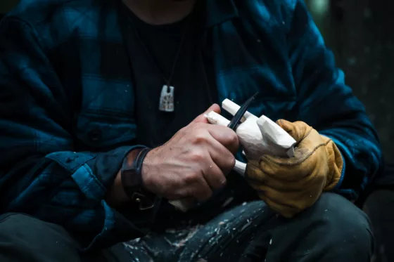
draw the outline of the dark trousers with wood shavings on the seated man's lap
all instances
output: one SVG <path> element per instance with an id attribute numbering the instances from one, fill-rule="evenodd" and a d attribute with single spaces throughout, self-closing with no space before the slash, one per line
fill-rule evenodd
<path id="1" fill-rule="evenodd" d="M 372 249 L 367 216 L 331 193 L 295 218 L 277 216 L 261 201 L 249 202 L 204 225 L 168 229 L 91 254 L 82 254 L 59 225 L 23 214 L 0 217 L 1 262 L 369 262 Z"/>

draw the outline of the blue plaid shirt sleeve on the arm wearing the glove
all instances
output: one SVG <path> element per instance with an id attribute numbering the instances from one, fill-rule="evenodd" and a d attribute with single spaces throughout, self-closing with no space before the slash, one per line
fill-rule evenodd
<path id="1" fill-rule="evenodd" d="M 287 43 L 298 91 L 296 119 L 336 143 L 345 163 L 336 191 L 357 199 L 381 169 L 379 140 L 364 105 L 345 84 L 344 74 L 336 67 L 333 53 L 326 48 L 303 0 L 295 0 Z"/>

